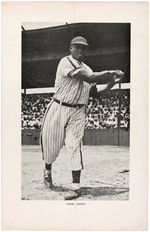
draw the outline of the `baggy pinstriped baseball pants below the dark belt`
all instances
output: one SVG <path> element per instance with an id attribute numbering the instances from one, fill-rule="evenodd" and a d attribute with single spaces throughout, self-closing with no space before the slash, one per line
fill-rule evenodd
<path id="1" fill-rule="evenodd" d="M 66 107 L 52 102 L 47 110 L 41 131 L 42 157 L 52 164 L 66 145 L 69 170 L 81 170 L 81 141 L 84 135 L 85 107 Z"/>

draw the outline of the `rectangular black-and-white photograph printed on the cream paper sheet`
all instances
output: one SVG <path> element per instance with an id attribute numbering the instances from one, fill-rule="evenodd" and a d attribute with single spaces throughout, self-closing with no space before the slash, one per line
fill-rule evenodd
<path id="1" fill-rule="evenodd" d="M 22 22 L 22 200 L 129 200 L 131 27 Z"/>

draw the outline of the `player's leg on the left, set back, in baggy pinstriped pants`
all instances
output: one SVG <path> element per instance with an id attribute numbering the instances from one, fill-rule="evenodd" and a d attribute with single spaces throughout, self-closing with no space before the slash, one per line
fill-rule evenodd
<path id="1" fill-rule="evenodd" d="M 57 103 L 53 103 L 44 121 L 41 133 L 42 156 L 45 162 L 44 183 L 52 188 L 52 163 L 59 155 L 59 151 L 64 144 L 64 124 L 65 118 L 61 117 L 61 108 Z"/>

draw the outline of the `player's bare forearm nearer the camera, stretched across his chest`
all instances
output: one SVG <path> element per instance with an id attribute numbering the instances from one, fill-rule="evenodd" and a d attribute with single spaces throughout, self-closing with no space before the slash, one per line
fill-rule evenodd
<path id="1" fill-rule="evenodd" d="M 111 78 L 113 78 L 114 74 L 116 73 L 117 71 L 115 70 L 107 70 L 102 72 L 93 72 L 91 74 L 87 70 L 80 68 L 79 70 L 77 70 L 77 72 L 72 73 L 72 77 L 88 83 L 101 84 L 103 80 L 110 80 Z"/>

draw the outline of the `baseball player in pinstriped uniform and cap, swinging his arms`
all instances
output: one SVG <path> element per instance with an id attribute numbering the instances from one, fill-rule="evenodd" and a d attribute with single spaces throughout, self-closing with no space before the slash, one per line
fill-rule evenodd
<path id="1" fill-rule="evenodd" d="M 90 91 L 95 96 L 111 89 L 124 73 L 121 71 L 93 72 L 83 63 L 88 48 L 87 40 L 81 36 L 72 39 L 70 55 L 58 64 L 55 80 L 55 93 L 43 119 L 41 130 L 42 157 L 45 162 L 44 183 L 50 189 L 52 184 L 52 163 L 66 145 L 68 167 L 72 172 L 72 186 L 65 200 L 80 196 L 80 176 L 83 169 L 81 141 L 84 135 L 85 106 Z M 97 90 L 96 85 L 104 78 L 111 79 Z"/>

